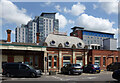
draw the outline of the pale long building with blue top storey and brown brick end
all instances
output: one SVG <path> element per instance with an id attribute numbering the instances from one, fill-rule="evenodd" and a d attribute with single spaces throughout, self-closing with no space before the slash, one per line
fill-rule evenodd
<path id="1" fill-rule="evenodd" d="M 85 30 L 82 27 L 73 27 L 72 30 L 70 33 L 71 36 L 79 37 L 87 46 L 90 46 L 90 44 L 98 44 L 101 49 L 103 49 L 104 39 L 114 38 L 114 34 L 112 33 Z"/>

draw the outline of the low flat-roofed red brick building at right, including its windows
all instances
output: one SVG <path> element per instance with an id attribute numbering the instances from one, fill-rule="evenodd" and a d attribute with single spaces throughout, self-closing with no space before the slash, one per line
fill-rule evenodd
<path id="1" fill-rule="evenodd" d="M 99 64 L 101 69 L 106 69 L 112 62 L 118 62 L 119 51 L 112 50 L 89 50 L 88 64 Z"/>

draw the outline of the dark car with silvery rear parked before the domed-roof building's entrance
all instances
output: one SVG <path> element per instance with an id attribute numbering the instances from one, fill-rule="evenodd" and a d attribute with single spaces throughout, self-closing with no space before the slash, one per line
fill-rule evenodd
<path id="1" fill-rule="evenodd" d="M 66 64 L 61 68 L 61 73 L 64 74 L 74 74 L 78 73 L 79 75 L 82 74 L 83 69 L 80 64 Z"/>

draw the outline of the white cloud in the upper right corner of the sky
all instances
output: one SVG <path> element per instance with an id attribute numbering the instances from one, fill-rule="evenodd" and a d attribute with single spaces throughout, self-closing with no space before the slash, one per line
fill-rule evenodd
<path id="1" fill-rule="evenodd" d="M 118 0 L 111 0 L 110 2 L 101 2 L 101 8 L 107 13 L 107 14 L 118 14 Z"/>

